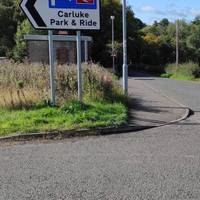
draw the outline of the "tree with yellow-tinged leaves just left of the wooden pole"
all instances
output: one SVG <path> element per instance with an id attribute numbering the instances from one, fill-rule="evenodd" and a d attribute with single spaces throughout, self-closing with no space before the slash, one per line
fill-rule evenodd
<path id="1" fill-rule="evenodd" d="M 141 63 L 161 65 L 173 60 L 174 24 L 172 25 L 167 19 L 163 19 L 144 27 L 141 33 L 143 34 Z"/>

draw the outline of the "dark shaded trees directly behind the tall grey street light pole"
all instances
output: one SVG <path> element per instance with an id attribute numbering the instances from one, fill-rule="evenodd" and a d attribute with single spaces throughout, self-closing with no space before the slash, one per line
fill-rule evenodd
<path id="1" fill-rule="evenodd" d="M 111 40 L 111 20 L 110 16 L 115 16 L 115 40 L 118 43 L 122 42 L 122 5 L 120 0 L 102 0 L 101 1 L 101 30 L 94 32 L 85 32 L 93 37 L 92 59 L 95 62 L 100 62 L 105 67 L 112 66 L 112 58 L 108 52 L 107 45 Z M 129 61 L 133 60 L 138 51 L 137 38 L 139 38 L 138 30 L 144 27 L 141 20 L 135 18 L 130 7 L 127 8 L 127 38 L 129 52 Z M 134 40 L 132 40 L 134 38 Z M 133 47 L 137 45 L 138 48 Z M 133 50 L 132 50 L 133 49 Z M 119 68 L 122 65 L 122 59 L 119 59 Z"/>

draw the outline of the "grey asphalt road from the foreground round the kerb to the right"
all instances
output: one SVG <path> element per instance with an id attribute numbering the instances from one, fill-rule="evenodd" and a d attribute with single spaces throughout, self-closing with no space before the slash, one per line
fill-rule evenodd
<path id="1" fill-rule="evenodd" d="M 199 85 L 145 81 L 200 110 Z M 11 199 L 200 199 L 198 112 L 137 133 L 0 146 L 0 200 Z"/>

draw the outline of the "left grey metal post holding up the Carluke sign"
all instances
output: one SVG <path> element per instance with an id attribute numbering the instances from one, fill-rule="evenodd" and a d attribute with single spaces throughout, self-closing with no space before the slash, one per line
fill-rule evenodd
<path id="1" fill-rule="evenodd" d="M 54 69 L 54 53 L 53 53 L 53 38 L 52 31 L 48 31 L 49 40 L 49 66 L 50 66 L 50 87 L 51 87 L 51 104 L 56 105 L 56 94 L 55 94 L 55 69 Z"/>

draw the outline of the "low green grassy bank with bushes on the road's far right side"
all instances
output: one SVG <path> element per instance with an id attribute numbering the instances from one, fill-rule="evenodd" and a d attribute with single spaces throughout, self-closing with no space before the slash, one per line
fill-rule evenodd
<path id="1" fill-rule="evenodd" d="M 200 81 L 200 66 L 196 63 L 180 64 L 178 68 L 175 64 L 165 66 L 165 73 L 162 78 L 173 78 L 176 80 Z"/>

